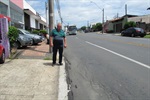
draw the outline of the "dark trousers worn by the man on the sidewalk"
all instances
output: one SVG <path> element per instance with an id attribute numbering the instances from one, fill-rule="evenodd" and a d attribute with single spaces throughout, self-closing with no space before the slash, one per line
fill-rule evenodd
<path id="1" fill-rule="evenodd" d="M 63 45 L 54 45 L 54 47 L 53 47 L 53 64 L 56 63 L 57 51 L 59 51 L 59 63 L 62 63 Z"/>

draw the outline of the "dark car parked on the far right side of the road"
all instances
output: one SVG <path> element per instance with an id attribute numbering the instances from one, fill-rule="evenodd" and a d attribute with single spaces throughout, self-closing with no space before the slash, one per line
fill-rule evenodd
<path id="1" fill-rule="evenodd" d="M 131 27 L 121 32 L 121 36 L 144 37 L 145 35 L 146 32 L 142 28 L 137 28 L 137 27 Z"/>

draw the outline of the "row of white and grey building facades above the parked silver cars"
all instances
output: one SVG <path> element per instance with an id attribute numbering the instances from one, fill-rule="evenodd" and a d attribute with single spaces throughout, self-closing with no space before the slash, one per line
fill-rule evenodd
<path id="1" fill-rule="evenodd" d="M 0 0 L 0 14 L 11 18 L 9 25 L 26 30 L 46 29 L 46 20 L 25 0 Z"/>

